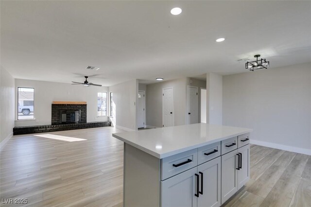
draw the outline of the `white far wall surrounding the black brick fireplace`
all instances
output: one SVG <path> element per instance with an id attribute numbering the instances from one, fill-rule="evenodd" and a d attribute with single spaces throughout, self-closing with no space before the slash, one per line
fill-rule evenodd
<path id="1" fill-rule="evenodd" d="M 97 117 L 97 92 L 107 92 L 108 87 L 71 85 L 47 81 L 15 79 L 16 98 L 17 87 L 35 88 L 35 120 L 15 121 L 16 126 L 51 124 L 53 101 L 86 102 L 87 122 L 108 120 L 107 117 Z M 17 101 L 15 103 L 15 106 L 15 108 L 17 108 Z M 17 112 L 15 110 L 15 118 L 17 117 L 16 113 Z"/>

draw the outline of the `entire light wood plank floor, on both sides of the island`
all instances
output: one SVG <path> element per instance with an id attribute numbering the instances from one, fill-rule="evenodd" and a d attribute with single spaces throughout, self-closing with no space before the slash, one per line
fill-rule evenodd
<path id="1" fill-rule="evenodd" d="M 1 199 L 15 206 L 122 206 L 123 142 L 113 127 L 14 136 L 0 153 Z M 64 138 L 64 137 L 55 138 Z M 251 180 L 225 207 L 311 206 L 311 156 L 251 145 Z M 14 206 L 4 205 L 1 206 Z"/>

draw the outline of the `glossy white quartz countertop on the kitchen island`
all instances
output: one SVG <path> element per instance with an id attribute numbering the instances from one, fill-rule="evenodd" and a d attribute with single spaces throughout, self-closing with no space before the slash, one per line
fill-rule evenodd
<path id="1" fill-rule="evenodd" d="M 239 136 L 252 129 L 196 123 L 112 134 L 159 159 Z"/>

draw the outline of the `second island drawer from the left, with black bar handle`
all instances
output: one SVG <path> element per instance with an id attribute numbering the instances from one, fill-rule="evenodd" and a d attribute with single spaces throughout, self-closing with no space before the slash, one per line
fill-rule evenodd
<path id="1" fill-rule="evenodd" d="M 220 156 L 220 141 L 198 148 L 198 165 Z"/>

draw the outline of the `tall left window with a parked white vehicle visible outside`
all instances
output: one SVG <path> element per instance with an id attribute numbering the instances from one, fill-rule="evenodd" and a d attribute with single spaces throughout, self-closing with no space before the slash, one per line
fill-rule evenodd
<path id="1" fill-rule="evenodd" d="M 17 120 L 34 119 L 34 88 L 17 87 Z"/>

